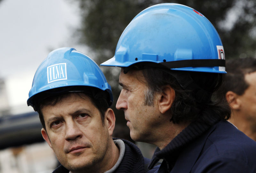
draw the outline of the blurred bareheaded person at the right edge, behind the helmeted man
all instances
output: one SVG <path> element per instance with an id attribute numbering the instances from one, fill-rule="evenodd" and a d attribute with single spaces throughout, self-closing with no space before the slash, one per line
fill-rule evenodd
<path id="1" fill-rule="evenodd" d="M 228 59 L 226 80 L 218 95 L 231 108 L 230 122 L 256 141 L 256 58 Z"/>

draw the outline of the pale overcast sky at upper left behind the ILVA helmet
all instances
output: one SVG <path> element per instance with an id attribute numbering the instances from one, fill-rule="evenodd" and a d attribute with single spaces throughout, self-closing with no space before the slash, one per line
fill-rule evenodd
<path id="1" fill-rule="evenodd" d="M 26 106 L 34 73 L 50 50 L 74 47 L 85 51 L 72 38 L 80 17 L 78 5 L 70 2 L 74 1 L 0 2 L 0 78 L 5 79 L 11 107 Z"/>

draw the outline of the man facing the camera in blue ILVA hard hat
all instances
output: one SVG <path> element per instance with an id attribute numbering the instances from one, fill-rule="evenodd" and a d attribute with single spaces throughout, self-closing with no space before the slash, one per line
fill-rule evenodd
<path id="1" fill-rule="evenodd" d="M 27 103 L 39 113 L 42 136 L 61 163 L 54 173 L 152 171 L 138 147 L 112 139 L 112 102 L 104 74 L 83 53 L 56 49 L 39 65 Z"/>

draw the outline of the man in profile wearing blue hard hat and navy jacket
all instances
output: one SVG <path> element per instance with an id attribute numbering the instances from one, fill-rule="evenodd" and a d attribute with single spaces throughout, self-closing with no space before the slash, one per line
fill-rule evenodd
<path id="1" fill-rule="evenodd" d="M 222 83 L 220 37 L 200 12 L 157 4 L 125 28 L 115 56 L 121 67 L 116 108 L 133 140 L 157 146 L 157 172 L 256 172 L 256 143 L 226 121 L 228 104 L 212 94 Z"/>

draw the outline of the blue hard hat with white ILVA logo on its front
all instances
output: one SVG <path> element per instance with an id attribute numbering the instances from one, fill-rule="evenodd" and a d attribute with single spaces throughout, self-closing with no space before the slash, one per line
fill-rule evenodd
<path id="1" fill-rule="evenodd" d="M 60 48 L 50 52 L 37 68 L 27 104 L 33 106 L 36 94 L 66 86 L 99 88 L 108 92 L 109 106 L 113 102 L 111 86 L 99 66 L 76 49 Z"/>

